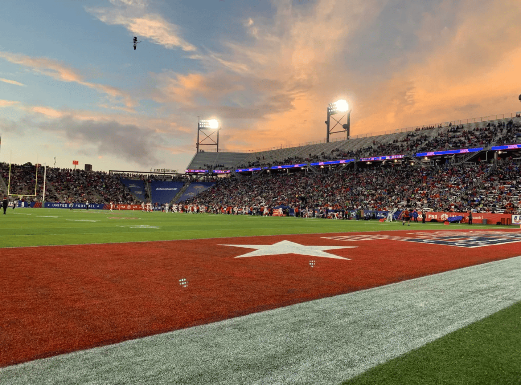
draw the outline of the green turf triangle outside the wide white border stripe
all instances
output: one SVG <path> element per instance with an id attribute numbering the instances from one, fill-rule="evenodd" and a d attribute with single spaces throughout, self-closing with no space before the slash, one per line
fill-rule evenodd
<path id="1" fill-rule="evenodd" d="M 521 302 L 343 385 L 521 384 Z"/>

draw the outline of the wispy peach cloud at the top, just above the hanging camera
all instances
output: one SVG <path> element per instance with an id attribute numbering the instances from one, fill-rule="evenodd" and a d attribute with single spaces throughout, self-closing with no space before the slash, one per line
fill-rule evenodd
<path id="1" fill-rule="evenodd" d="M 110 25 L 122 25 L 132 34 L 146 38 L 166 48 L 195 51 L 194 45 L 181 37 L 178 25 L 163 16 L 148 11 L 148 4 L 141 0 L 110 0 L 113 7 L 85 8 L 90 14 Z"/>

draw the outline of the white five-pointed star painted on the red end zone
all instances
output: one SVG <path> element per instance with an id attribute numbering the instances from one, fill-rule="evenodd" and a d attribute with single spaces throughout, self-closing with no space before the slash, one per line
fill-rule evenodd
<path id="1" fill-rule="evenodd" d="M 342 256 L 334 255 L 325 252 L 324 250 L 336 250 L 336 249 L 351 249 L 357 246 L 304 246 L 299 243 L 283 240 L 274 245 L 219 245 L 219 246 L 233 246 L 243 247 L 246 249 L 257 249 L 250 251 L 249 253 L 235 256 L 234 258 L 243 258 L 245 256 L 262 256 L 262 255 L 279 255 L 279 254 L 299 254 L 299 255 L 311 255 L 321 256 L 323 258 L 334 258 L 334 259 L 345 259 Z"/>

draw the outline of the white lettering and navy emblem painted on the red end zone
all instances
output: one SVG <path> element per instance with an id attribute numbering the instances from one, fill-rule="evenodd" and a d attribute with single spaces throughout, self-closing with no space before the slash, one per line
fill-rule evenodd
<path id="1" fill-rule="evenodd" d="M 521 215 L 517 215 L 521 220 Z M 493 245 L 505 245 L 505 243 L 521 242 L 521 233 L 497 232 L 490 230 L 476 230 L 471 232 L 433 232 L 433 233 L 408 233 L 410 237 L 401 237 L 387 234 L 346 235 L 338 237 L 323 237 L 326 239 L 342 241 L 363 241 L 389 239 L 404 242 L 416 242 L 429 245 L 444 245 L 455 247 L 476 248 Z"/>

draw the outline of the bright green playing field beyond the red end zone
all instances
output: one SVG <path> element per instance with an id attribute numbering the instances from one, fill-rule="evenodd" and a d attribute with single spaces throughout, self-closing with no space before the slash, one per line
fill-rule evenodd
<path id="1" fill-rule="evenodd" d="M 30 214 L 30 215 L 28 215 Z M 1 214 L 0 214 L 1 215 Z M 57 216 L 57 217 L 51 217 Z M 108 219 L 138 217 L 139 219 Z M 77 222 L 92 220 L 96 222 Z M 221 238 L 254 235 L 312 234 L 341 232 L 371 232 L 403 229 L 469 228 L 465 224 L 445 226 L 438 223 L 340 221 L 294 217 L 262 217 L 249 215 L 166 214 L 162 212 L 67 209 L 8 209 L 1 215 L 0 247 L 77 245 L 155 241 L 173 239 Z M 119 226 L 158 226 L 159 228 L 132 228 Z M 498 228 L 474 225 L 473 228 Z"/>

